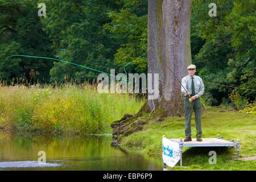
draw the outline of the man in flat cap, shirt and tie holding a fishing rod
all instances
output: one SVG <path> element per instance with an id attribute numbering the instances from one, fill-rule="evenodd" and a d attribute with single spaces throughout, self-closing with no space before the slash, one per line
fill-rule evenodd
<path id="1" fill-rule="evenodd" d="M 204 93 L 204 83 L 202 78 L 196 76 L 196 65 L 188 66 L 188 76 L 182 78 L 181 84 L 181 92 L 184 94 L 184 110 L 185 110 L 185 135 L 186 138 L 184 142 L 192 141 L 191 139 L 191 116 L 192 109 L 195 112 L 196 118 L 196 140 L 198 142 L 203 141 L 202 137 L 202 129 L 201 129 L 201 101 L 200 96 Z M 191 96 L 191 102 L 189 102 L 189 95 Z"/>

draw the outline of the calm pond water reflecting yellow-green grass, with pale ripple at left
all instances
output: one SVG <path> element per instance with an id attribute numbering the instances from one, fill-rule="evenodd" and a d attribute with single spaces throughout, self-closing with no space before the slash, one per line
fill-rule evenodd
<path id="1" fill-rule="evenodd" d="M 110 146 L 111 142 L 111 135 L 52 137 L 0 131 L 0 170 L 163 169 L 161 158 L 129 154 Z"/>

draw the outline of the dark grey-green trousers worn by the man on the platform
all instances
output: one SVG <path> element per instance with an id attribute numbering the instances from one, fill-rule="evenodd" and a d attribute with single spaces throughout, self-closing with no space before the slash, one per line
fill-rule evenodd
<path id="1" fill-rule="evenodd" d="M 184 110 L 185 110 L 185 135 L 186 137 L 191 137 L 191 117 L 192 110 L 195 112 L 196 119 L 196 137 L 202 137 L 202 127 L 201 127 L 201 100 L 197 98 L 196 100 L 189 103 L 188 98 L 184 98 Z"/>

